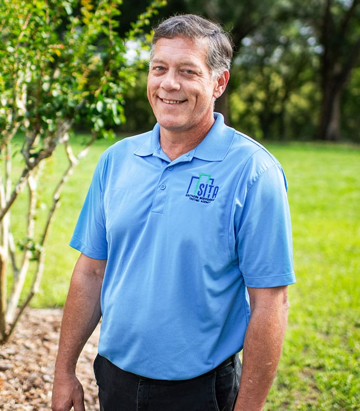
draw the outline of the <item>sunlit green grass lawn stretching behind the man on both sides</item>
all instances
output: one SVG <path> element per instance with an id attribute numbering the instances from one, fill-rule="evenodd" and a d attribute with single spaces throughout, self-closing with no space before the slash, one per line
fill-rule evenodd
<path id="1" fill-rule="evenodd" d="M 68 181 L 51 228 L 42 287 L 33 306 L 64 303 L 78 256 L 67 244 L 94 166 L 108 144 L 96 142 Z M 265 145 L 283 164 L 289 182 L 297 275 L 297 284 L 290 287 L 283 355 L 265 410 L 358 409 L 360 147 Z M 48 161 L 44 191 L 63 161 L 60 151 Z"/>

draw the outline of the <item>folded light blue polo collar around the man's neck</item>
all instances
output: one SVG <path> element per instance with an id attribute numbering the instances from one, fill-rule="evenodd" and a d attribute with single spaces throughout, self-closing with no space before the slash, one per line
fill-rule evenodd
<path id="1" fill-rule="evenodd" d="M 192 157 L 206 161 L 222 161 L 229 151 L 235 130 L 224 123 L 224 117 L 220 113 L 214 113 L 215 122 L 210 128 L 204 140 L 188 154 L 189 160 Z M 160 126 L 155 124 L 148 138 L 134 152 L 137 156 L 145 157 L 158 155 L 161 151 L 159 137 Z"/>

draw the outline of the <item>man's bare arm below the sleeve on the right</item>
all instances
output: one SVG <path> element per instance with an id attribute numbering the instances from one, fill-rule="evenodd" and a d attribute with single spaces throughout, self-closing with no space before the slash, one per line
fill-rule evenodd
<path id="1" fill-rule="evenodd" d="M 235 411 L 261 411 L 272 386 L 287 325 L 287 286 L 248 288 L 251 315 Z"/>

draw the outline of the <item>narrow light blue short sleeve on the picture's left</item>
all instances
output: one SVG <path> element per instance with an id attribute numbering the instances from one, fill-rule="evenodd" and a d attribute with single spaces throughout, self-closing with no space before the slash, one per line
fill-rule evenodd
<path id="1" fill-rule="evenodd" d="M 100 159 L 70 240 L 71 247 L 96 259 L 107 259 L 106 226 L 102 207 L 103 167 L 104 161 Z"/>

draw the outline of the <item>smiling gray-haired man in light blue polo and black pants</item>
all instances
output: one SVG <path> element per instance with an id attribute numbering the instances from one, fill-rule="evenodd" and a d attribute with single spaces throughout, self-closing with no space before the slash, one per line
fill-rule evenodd
<path id="1" fill-rule="evenodd" d="M 75 367 L 100 317 L 101 410 L 263 408 L 295 282 L 291 223 L 278 161 L 213 112 L 231 57 L 227 34 L 202 17 L 155 30 L 157 124 L 102 155 L 70 242 L 81 255 L 54 411 L 84 410 Z"/>

